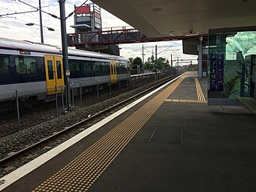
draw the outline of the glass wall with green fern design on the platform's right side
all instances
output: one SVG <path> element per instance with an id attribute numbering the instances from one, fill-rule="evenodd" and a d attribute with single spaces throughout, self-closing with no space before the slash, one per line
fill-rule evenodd
<path id="1" fill-rule="evenodd" d="M 256 29 L 209 31 L 209 99 L 256 98 Z"/>

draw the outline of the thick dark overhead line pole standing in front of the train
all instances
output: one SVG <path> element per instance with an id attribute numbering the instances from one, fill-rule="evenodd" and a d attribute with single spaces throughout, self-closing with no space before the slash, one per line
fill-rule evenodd
<path id="1" fill-rule="evenodd" d="M 65 0 L 59 0 L 61 15 L 61 43 L 62 43 L 62 60 L 64 68 L 64 81 L 67 89 L 67 108 L 70 110 L 70 86 L 69 86 L 69 68 L 68 68 L 68 41 L 65 20 Z"/>

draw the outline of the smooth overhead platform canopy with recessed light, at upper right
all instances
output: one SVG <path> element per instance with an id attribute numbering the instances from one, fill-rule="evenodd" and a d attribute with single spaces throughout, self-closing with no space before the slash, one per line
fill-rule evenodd
<path id="1" fill-rule="evenodd" d="M 147 37 L 256 26 L 255 0 L 92 0 Z"/>

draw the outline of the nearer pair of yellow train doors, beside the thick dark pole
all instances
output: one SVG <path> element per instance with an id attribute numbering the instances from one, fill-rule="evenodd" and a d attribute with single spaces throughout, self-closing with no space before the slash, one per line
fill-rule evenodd
<path id="1" fill-rule="evenodd" d="M 63 64 L 61 56 L 45 55 L 45 75 L 47 82 L 47 95 L 55 93 L 55 86 L 58 87 L 58 92 L 61 88 L 59 86 L 64 86 L 64 74 L 63 74 Z"/>

